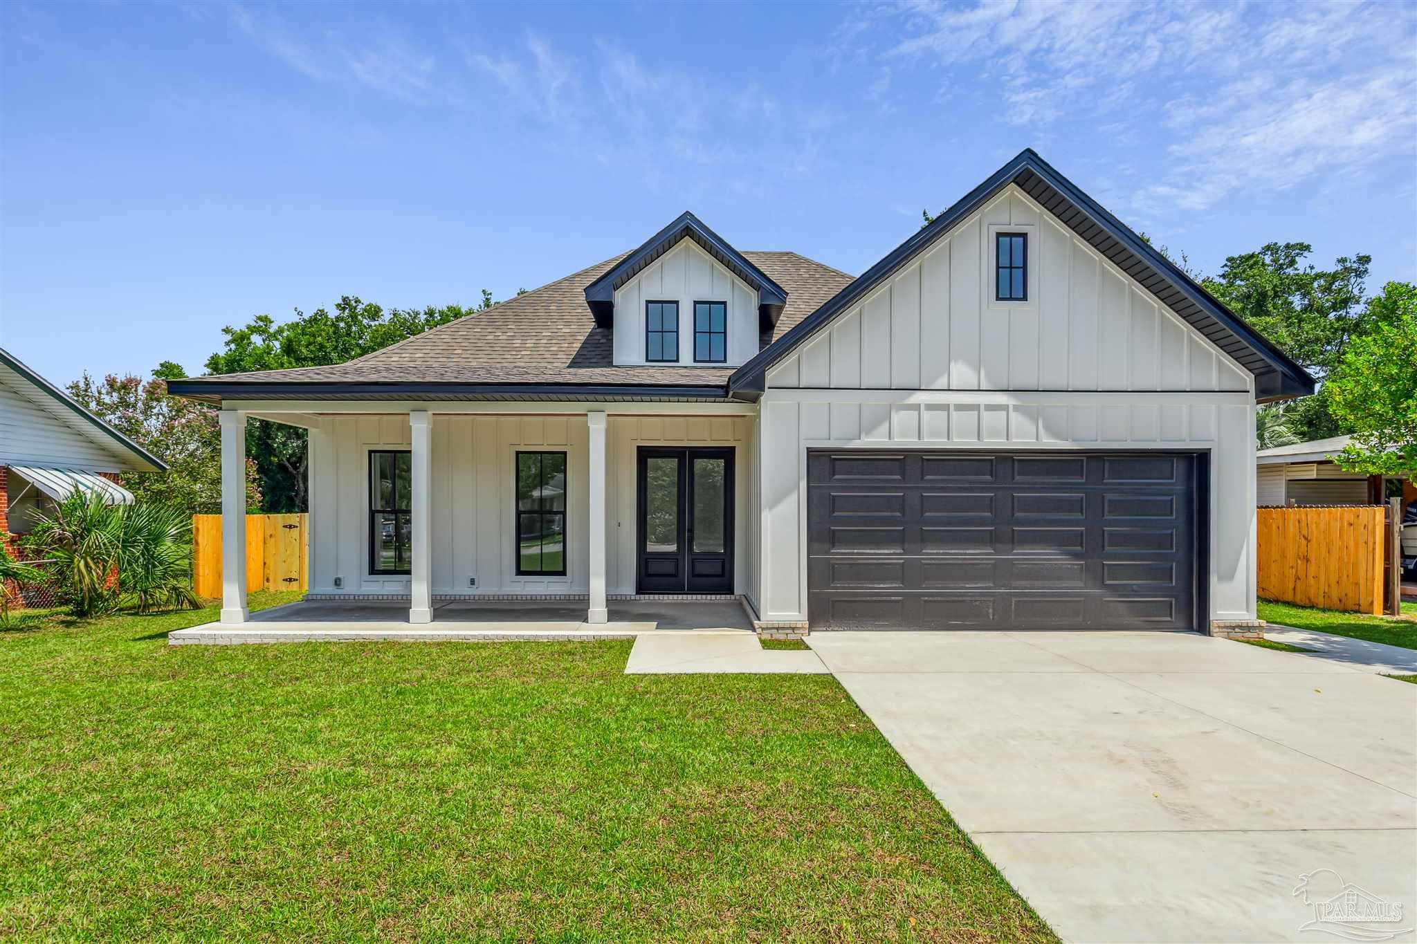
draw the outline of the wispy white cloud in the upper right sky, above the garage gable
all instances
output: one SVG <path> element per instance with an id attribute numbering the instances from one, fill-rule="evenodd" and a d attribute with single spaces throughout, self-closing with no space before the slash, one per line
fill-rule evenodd
<path id="1" fill-rule="evenodd" d="M 947 98 L 982 74 L 971 93 L 1034 136 L 1071 122 L 1156 149 L 1159 180 L 1125 190 L 1144 214 L 1410 156 L 1417 136 L 1411 4 L 914 0 L 852 18 L 839 41 L 894 75 L 937 71 Z"/>

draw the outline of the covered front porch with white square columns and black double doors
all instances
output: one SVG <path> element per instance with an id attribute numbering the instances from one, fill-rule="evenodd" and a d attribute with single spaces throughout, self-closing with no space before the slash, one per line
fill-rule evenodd
<path id="1" fill-rule="evenodd" d="M 309 436 L 309 596 L 255 617 L 251 419 Z M 752 405 L 721 401 L 227 401 L 214 626 L 751 631 L 755 426 Z M 726 606 L 682 606 L 696 603 Z"/>

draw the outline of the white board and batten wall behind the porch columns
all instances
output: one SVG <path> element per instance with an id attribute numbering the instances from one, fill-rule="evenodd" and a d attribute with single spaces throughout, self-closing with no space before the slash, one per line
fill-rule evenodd
<path id="1" fill-rule="evenodd" d="M 735 559 L 744 582 L 748 549 L 751 418 L 612 416 L 606 429 L 606 592 L 635 592 L 639 446 L 734 446 Z M 589 586 L 589 432 L 585 413 L 565 416 L 432 416 L 432 590 L 435 594 L 582 594 Z M 310 590 L 407 594 L 410 577 L 368 568 L 368 453 L 408 449 L 407 415 L 324 418 L 310 436 Z M 516 573 L 517 451 L 567 453 L 567 573 Z M 334 577 L 343 586 L 334 586 Z M 469 585 L 476 579 L 476 586 Z"/>

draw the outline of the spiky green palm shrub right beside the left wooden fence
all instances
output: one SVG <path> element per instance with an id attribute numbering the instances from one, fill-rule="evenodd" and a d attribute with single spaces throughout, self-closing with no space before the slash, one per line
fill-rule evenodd
<path id="1" fill-rule="evenodd" d="M 162 504 L 125 508 L 118 570 L 139 613 L 201 606 L 191 590 L 191 515 Z"/>

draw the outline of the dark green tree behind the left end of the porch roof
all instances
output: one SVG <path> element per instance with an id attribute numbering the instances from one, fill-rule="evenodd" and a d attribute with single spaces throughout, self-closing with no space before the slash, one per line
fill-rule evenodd
<path id="1" fill-rule="evenodd" d="M 449 304 L 387 311 L 356 296 L 341 296 L 329 311 L 310 314 L 295 310 L 295 318 L 276 323 L 269 314 L 255 316 L 244 327 L 222 328 L 224 350 L 207 358 L 208 374 L 278 371 L 296 367 L 343 364 L 371 354 L 439 324 L 486 311 L 495 304 L 482 290 L 476 309 Z M 254 419 L 247 423 L 247 454 L 255 461 L 271 512 L 306 511 L 306 434 L 303 429 Z"/>

